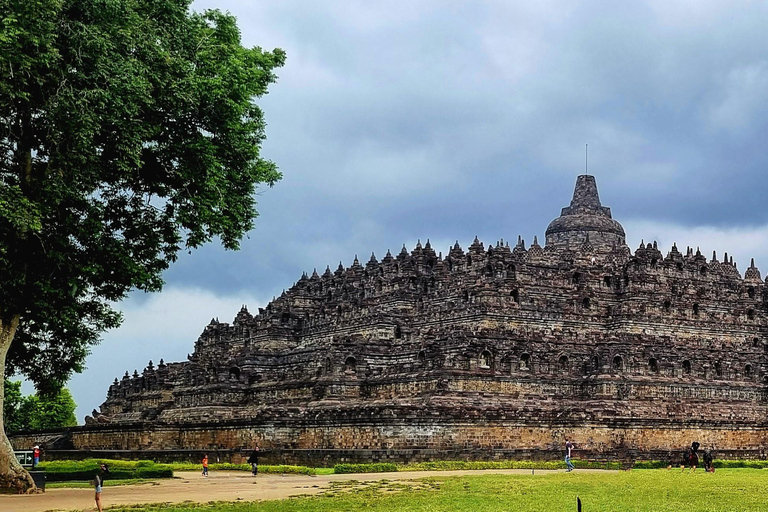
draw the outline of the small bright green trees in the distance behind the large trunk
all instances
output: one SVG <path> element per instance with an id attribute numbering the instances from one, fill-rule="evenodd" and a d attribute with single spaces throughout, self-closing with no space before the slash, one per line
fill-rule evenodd
<path id="1" fill-rule="evenodd" d="M 8 432 L 77 425 L 75 404 L 67 388 L 51 394 L 21 395 L 21 382 L 5 381 L 4 425 Z"/>

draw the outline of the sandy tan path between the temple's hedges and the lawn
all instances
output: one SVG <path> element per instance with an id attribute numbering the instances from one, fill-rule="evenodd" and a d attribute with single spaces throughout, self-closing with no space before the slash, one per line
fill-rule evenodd
<path id="1" fill-rule="evenodd" d="M 582 472 L 596 470 L 580 470 Z M 536 470 L 536 474 L 556 471 Z M 176 472 L 180 478 L 158 480 L 157 485 L 125 485 L 105 487 L 102 503 L 105 507 L 141 503 L 181 503 L 193 501 L 254 501 L 275 500 L 300 494 L 317 494 L 331 482 L 358 480 L 411 480 L 427 476 L 478 474 L 531 474 L 529 469 L 483 471 L 408 471 L 402 473 L 365 473 L 353 475 L 259 475 L 243 471 L 216 471 L 209 477 L 197 472 Z M 96 510 L 91 489 L 49 489 L 31 496 L 0 496 L 2 512 L 45 512 L 49 510 Z"/>

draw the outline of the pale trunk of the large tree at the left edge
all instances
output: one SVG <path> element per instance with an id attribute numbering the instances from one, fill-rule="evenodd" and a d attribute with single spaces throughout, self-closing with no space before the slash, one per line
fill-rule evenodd
<path id="1" fill-rule="evenodd" d="M 21 467 L 13 455 L 13 447 L 5 435 L 3 424 L 3 404 L 5 403 L 5 356 L 11 347 L 16 328 L 19 326 L 19 315 L 5 322 L 0 316 L 0 490 L 15 490 L 16 492 L 35 492 L 35 482 L 27 470 Z"/>

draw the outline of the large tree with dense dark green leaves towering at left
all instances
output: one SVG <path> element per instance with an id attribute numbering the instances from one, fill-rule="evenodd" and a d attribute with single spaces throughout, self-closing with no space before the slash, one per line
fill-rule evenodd
<path id="1" fill-rule="evenodd" d="M 280 179 L 254 98 L 284 53 L 189 5 L 0 0 L 0 385 L 55 392 L 112 304 L 160 290 L 181 250 L 238 249 Z M 0 487 L 33 486 L 3 432 Z"/>

